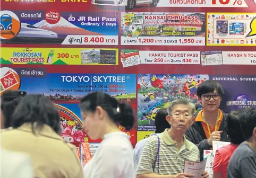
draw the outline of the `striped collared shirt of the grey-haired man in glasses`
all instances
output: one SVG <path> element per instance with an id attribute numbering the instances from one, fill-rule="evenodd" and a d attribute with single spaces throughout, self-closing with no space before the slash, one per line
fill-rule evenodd
<path id="1" fill-rule="evenodd" d="M 158 150 L 158 137 L 151 136 L 144 145 L 139 164 L 137 166 L 136 174 L 160 174 L 160 175 L 176 175 L 183 173 L 184 161 L 199 162 L 199 149 L 184 136 L 183 145 L 180 150 L 177 144 L 170 138 L 166 129 L 160 133 L 160 149 L 159 149 L 159 165 L 156 161 L 156 167 L 153 171 L 153 164 Z M 159 172 L 158 172 L 159 170 Z"/>

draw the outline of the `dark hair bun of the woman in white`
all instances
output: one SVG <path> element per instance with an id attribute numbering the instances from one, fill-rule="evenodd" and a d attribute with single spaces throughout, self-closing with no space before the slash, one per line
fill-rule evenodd
<path id="1" fill-rule="evenodd" d="M 119 112 L 118 108 L 120 109 Z M 135 122 L 132 106 L 128 103 L 118 103 L 115 120 L 126 130 L 131 130 Z"/>

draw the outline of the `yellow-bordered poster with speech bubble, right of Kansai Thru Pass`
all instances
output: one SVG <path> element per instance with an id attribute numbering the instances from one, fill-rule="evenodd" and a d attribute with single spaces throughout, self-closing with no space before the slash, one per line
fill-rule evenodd
<path id="1" fill-rule="evenodd" d="M 208 46 L 256 46 L 256 13 L 207 13 Z"/>

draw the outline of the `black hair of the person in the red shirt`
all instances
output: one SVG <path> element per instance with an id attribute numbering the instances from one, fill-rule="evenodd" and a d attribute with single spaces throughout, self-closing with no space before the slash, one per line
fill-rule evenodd
<path id="1" fill-rule="evenodd" d="M 243 132 L 240 128 L 242 111 L 231 111 L 227 115 L 225 129 L 232 144 L 240 145 L 244 141 Z"/>

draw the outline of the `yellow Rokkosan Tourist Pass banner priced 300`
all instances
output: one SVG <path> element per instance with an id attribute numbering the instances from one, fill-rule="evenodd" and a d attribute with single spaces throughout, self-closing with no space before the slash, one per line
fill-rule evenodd
<path id="1" fill-rule="evenodd" d="M 118 49 L 1 48 L 1 64 L 118 65 Z"/>

